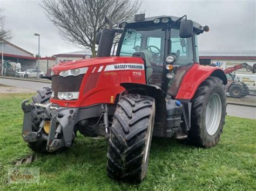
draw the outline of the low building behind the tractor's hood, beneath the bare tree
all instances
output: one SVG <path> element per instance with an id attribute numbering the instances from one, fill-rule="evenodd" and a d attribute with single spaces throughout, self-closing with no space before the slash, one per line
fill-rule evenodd
<path id="1" fill-rule="evenodd" d="M 59 63 L 59 62 L 65 62 L 65 61 L 82 60 L 85 58 L 91 58 L 92 53 L 89 50 L 83 50 L 83 51 L 55 54 L 54 56 L 56 57 L 56 63 Z"/>

